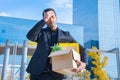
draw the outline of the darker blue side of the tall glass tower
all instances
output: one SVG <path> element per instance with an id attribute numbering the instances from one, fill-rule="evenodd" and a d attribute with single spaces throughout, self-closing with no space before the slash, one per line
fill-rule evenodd
<path id="1" fill-rule="evenodd" d="M 84 26 L 84 43 L 98 40 L 98 1 L 73 0 L 73 24 Z"/>

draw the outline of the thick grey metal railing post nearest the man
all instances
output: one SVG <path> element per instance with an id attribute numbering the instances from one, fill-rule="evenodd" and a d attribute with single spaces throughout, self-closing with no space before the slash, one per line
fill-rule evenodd
<path id="1" fill-rule="evenodd" d="M 23 52 L 22 52 L 22 61 L 21 61 L 21 70 L 20 70 L 20 80 L 25 80 L 25 70 L 26 70 L 26 64 L 27 64 L 27 41 L 24 40 L 23 43 Z"/>

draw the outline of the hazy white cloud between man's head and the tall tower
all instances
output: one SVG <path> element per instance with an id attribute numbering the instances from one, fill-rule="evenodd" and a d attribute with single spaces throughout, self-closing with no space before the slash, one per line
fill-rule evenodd
<path id="1" fill-rule="evenodd" d="M 55 9 L 58 22 L 72 24 L 72 1 L 73 0 L 51 0 L 47 5 Z"/>

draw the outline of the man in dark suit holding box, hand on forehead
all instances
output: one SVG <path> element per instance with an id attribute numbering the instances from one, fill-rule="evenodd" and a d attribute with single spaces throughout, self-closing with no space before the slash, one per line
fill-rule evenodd
<path id="1" fill-rule="evenodd" d="M 44 25 L 46 28 L 42 28 Z M 37 48 L 27 67 L 30 73 L 30 80 L 62 80 L 64 75 L 53 72 L 48 58 L 51 52 L 51 46 L 59 42 L 76 42 L 69 32 L 63 31 L 57 26 L 56 12 L 52 8 L 43 11 L 43 19 L 40 20 L 27 34 L 27 38 L 37 42 Z M 81 48 L 81 62 L 76 60 L 78 68 L 75 72 L 85 69 L 87 56 L 85 49 Z"/>

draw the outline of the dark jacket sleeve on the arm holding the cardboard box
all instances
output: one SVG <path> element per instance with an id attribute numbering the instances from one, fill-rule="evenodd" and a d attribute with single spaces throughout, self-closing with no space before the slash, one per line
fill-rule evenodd
<path id="1" fill-rule="evenodd" d="M 69 33 L 70 35 L 70 41 L 71 42 L 77 42 Z M 77 42 L 78 43 L 78 42 Z M 81 56 L 81 61 L 85 62 L 86 64 L 88 64 L 88 55 L 87 55 L 87 50 L 86 48 L 84 48 L 82 45 L 79 44 L 79 49 L 80 49 L 80 56 Z"/>

